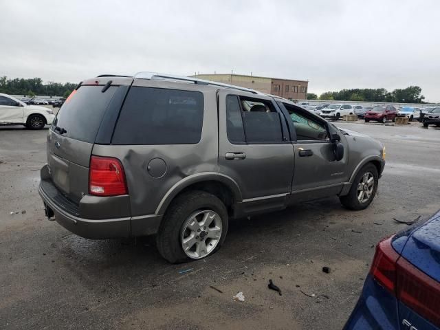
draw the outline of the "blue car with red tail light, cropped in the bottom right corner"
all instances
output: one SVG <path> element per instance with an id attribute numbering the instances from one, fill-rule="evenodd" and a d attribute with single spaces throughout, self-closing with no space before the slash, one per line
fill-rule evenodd
<path id="1" fill-rule="evenodd" d="M 344 329 L 440 329 L 440 212 L 377 245 Z"/>

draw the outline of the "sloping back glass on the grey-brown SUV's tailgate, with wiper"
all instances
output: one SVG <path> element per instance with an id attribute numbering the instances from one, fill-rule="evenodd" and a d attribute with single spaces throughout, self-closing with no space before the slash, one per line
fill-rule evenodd
<path id="1" fill-rule="evenodd" d="M 102 93 L 102 86 L 81 86 L 64 102 L 53 127 L 65 129 L 67 132 L 63 136 L 94 143 L 102 116 L 116 89 L 111 86 Z"/>

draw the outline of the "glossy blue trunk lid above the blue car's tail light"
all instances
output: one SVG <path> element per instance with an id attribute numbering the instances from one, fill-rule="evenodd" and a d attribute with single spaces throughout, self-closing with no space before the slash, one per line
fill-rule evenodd
<path id="1" fill-rule="evenodd" d="M 440 211 L 412 230 L 401 256 L 440 282 Z"/>

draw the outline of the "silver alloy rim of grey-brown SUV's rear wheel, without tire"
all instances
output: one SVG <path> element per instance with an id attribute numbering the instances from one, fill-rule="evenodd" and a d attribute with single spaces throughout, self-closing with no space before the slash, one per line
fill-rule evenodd
<path id="1" fill-rule="evenodd" d="M 181 248 L 191 259 L 208 256 L 221 238 L 221 217 L 213 210 L 192 213 L 181 228 Z"/>

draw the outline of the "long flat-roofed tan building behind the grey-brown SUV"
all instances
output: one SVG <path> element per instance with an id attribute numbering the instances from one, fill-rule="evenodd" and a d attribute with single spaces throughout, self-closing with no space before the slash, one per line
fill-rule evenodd
<path id="1" fill-rule="evenodd" d="M 305 100 L 309 85 L 309 82 L 305 80 L 244 76 L 242 74 L 197 74 L 191 77 L 252 88 L 262 93 L 281 96 L 289 100 Z"/>

